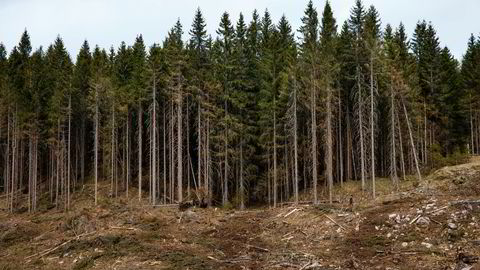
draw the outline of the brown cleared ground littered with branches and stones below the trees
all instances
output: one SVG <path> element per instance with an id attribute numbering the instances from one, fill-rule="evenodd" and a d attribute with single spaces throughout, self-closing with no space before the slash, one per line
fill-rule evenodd
<path id="1" fill-rule="evenodd" d="M 376 200 L 347 183 L 333 205 L 182 213 L 107 198 L 107 186 L 94 207 L 86 186 L 68 213 L 2 210 L 0 269 L 478 269 L 479 159 L 391 187 L 379 180 Z"/>

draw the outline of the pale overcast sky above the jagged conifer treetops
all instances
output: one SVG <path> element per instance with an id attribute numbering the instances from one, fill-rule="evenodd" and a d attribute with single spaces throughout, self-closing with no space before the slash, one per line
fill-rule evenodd
<path id="1" fill-rule="evenodd" d="M 70 55 L 76 58 L 83 40 L 90 46 L 118 47 L 132 44 L 143 34 L 147 45 L 161 42 L 180 18 L 188 37 L 193 15 L 200 7 L 210 34 L 215 35 L 219 19 L 228 11 L 232 20 L 243 12 L 249 20 L 257 9 L 268 8 L 277 21 L 282 14 L 297 30 L 308 0 L 0 0 L 0 42 L 10 51 L 26 28 L 34 48 L 48 46 L 60 35 Z M 350 14 L 354 0 L 330 0 L 339 26 Z M 457 59 L 466 49 L 471 33 L 480 34 L 480 0 L 363 0 L 379 10 L 382 26 L 394 27 L 402 21 L 409 35 L 418 20 L 432 21 L 442 46 L 448 46 Z M 314 0 L 319 14 L 325 0 Z"/>

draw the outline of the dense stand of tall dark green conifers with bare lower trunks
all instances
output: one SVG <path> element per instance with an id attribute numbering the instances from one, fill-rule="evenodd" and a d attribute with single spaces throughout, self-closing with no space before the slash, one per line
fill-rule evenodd
<path id="1" fill-rule="evenodd" d="M 457 60 L 433 23 L 409 37 L 361 0 L 343 23 L 310 1 L 300 29 L 266 10 L 207 33 L 199 8 L 162 44 L 85 40 L 75 59 L 25 30 L 0 43 L 2 200 L 68 211 L 108 183 L 112 198 L 244 209 L 332 202 L 350 181 L 374 199 L 380 178 L 480 153 L 480 37 L 465 42 Z"/>

